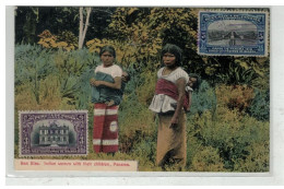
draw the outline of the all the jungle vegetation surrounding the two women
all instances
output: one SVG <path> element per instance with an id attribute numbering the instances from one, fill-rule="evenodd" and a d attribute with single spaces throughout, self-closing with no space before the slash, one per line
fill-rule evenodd
<path id="1" fill-rule="evenodd" d="M 185 170 L 269 172 L 270 58 L 198 55 L 200 10 L 206 9 L 17 7 L 15 158 L 19 110 L 87 109 L 88 155 L 39 158 L 137 160 L 139 170 L 162 170 L 155 165 L 157 122 L 149 105 L 162 46 L 171 43 L 184 49 L 182 68 L 202 78 L 187 114 Z M 115 47 L 116 63 L 131 75 L 119 107 L 119 152 L 114 156 L 92 149 L 88 81 L 104 45 Z"/>

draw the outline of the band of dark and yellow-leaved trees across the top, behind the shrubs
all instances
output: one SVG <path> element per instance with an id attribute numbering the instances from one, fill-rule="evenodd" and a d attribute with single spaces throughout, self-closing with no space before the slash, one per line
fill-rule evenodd
<path id="1" fill-rule="evenodd" d="M 199 73 L 211 85 L 247 84 L 267 90 L 270 64 L 268 57 L 201 57 L 197 54 L 200 10 L 202 9 L 93 8 L 86 33 L 87 46 L 90 51 L 97 52 L 97 47 L 113 45 L 117 49 L 118 61 L 125 67 L 134 64 L 138 70 L 151 64 L 155 70 L 159 66 L 157 55 L 162 46 L 173 43 L 184 49 L 184 68 L 188 72 Z M 16 9 L 15 21 L 16 44 L 35 44 L 37 36 L 48 29 L 57 37 L 42 42 L 46 48 L 76 48 L 79 8 L 20 7 Z"/>

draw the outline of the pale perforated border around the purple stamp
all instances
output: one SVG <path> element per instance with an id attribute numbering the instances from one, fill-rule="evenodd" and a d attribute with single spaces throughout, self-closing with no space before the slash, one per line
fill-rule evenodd
<path id="1" fill-rule="evenodd" d="M 21 134 L 21 125 L 22 125 L 22 120 L 21 120 L 21 115 L 22 114 L 60 114 L 60 113 L 85 113 L 86 114 L 86 154 L 35 154 L 35 155 L 23 155 L 22 151 L 21 151 L 21 141 L 22 141 L 22 134 Z M 40 156 L 87 156 L 88 155 L 88 110 L 84 110 L 84 109 L 74 109 L 74 110 L 19 110 L 17 111 L 17 118 L 19 118 L 19 143 L 17 143 L 17 147 L 19 147 L 19 157 L 40 157 Z"/>

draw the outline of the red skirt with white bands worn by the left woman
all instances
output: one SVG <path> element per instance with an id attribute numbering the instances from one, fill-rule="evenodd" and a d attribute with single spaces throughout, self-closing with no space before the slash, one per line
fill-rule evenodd
<path id="1" fill-rule="evenodd" d="M 118 106 L 94 104 L 93 149 L 95 153 L 118 151 Z"/>

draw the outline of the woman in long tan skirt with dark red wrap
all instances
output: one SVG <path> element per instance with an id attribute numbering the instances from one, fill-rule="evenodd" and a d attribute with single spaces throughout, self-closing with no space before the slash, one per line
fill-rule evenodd
<path id="1" fill-rule="evenodd" d="M 186 143 L 186 83 L 189 76 L 180 68 L 181 49 L 167 44 L 162 49 L 162 67 L 157 72 L 155 95 L 150 109 L 158 116 L 156 163 L 185 167 L 187 158 Z"/>

